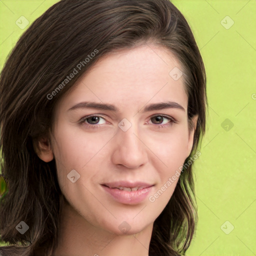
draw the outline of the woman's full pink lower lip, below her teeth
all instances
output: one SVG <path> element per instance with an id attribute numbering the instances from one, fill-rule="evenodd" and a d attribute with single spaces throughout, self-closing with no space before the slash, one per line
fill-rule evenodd
<path id="1" fill-rule="evenodd" d="M 149 186 L 135 191 L 126 191 L 104 185 L 102 185 L 102 187 L 105 191 L 110 193 L 116 201 L 126 204 L 136 204 L 143 201 L 152 188 L 152 186 Z"/>

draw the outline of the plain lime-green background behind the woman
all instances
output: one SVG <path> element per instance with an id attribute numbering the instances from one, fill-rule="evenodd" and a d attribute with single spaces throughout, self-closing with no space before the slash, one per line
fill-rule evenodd
<path id="1" fill-rule="evenodd" d="M 0 68 L 28 27 L 16 20 L 31 24 L 55 2 L 0 0 Z M 202 54 L 209 103 L 194 168 L 199 221 L 186 255 L 256 255 L 256 1 L 172 2 Z"/>

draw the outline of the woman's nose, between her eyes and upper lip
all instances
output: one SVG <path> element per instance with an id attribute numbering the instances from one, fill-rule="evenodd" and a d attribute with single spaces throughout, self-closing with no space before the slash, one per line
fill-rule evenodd
<path id="1" fill-rule="evenodd" d="M 123 165 L 126 168 L 135 169 L 147 162 L 146 145 L 138 135 L 135 125 L 123 131 L 118 128 L 114 136 L 114 150 L 112 162 L 116 165 Z"/>

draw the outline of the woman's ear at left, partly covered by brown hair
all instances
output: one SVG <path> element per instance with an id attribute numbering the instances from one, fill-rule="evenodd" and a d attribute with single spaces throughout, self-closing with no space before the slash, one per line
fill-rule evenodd
<path id="1" fill-rule="evenodd" d="M 49 162 L 53 159 L 53 152 L 48 138 L 43 137 L 37 141 L 33 141 L 33 148 L 37 156 L 44 162 Z"/>

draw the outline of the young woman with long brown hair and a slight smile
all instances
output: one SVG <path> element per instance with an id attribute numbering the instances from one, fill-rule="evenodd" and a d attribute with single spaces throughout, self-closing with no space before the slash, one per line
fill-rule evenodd
<path id="1" fill-rule="evenodd" d="M 182 255 L 205 71 L 168 0 L 61 0 L 0 77 L 1 255 Z"/>

